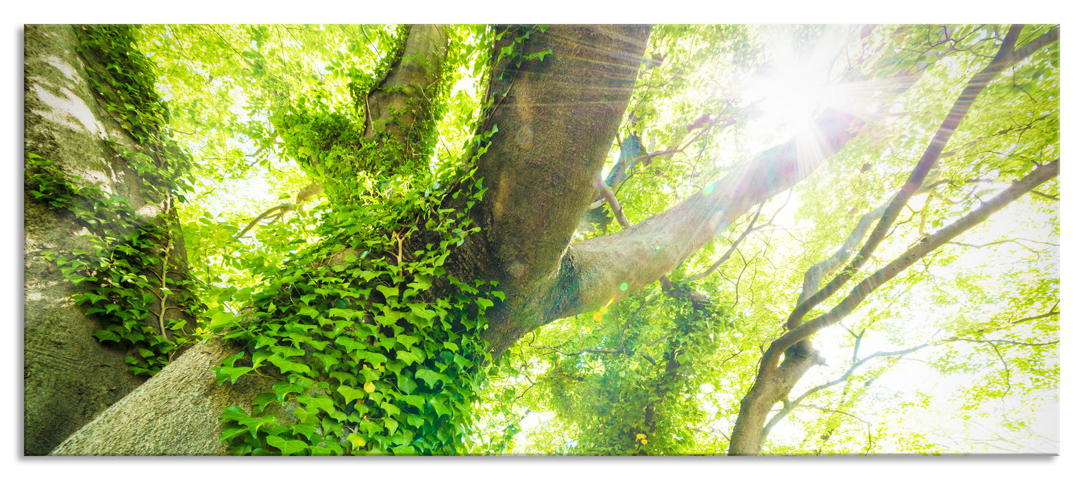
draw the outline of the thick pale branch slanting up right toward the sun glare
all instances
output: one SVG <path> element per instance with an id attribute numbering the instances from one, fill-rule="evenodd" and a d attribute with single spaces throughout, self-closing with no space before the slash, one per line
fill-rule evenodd
<path id="1" fill-rule="evenodd" d="M 853 126 L 861 122 L 829 110 L 815 121 L 820 154 L 806 155 L 792 139 L 711 184 L 711 190 L 632 228 L 575 243 L 549 294 L 540 299 L 544 321 L 597 310 L 658 280 L 750 207 L 812 174 L 857 134 Z"/>

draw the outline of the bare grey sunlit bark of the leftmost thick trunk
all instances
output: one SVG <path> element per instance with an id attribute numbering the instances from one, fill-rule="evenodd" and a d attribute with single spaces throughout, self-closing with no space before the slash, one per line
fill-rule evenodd
<path id="1" fill-rule="evenodd" d="M 70 26 L 29 25 L 25 31 L 24 148 L 53 166 L 127 200 L 152 222 L 158 205 L 147 204 L 139 176 L 117 156 L 134 141 L 109 118 L 90 89 L 78 38 Z M 142 383 L 131 375 L 125 349 L 103 345 L 91 336 L 102 328 L 72 295 L 81 291 L 64 278 L 42 251 L 65 254 L 88 249 L 88 233 L 67 210 L 28 192 L 36 188 L 28 166 L 24 186 L 24 454 L 44 455 L 102 409 Z M 105 226 L 106 229 L 111 226 Z M 122 233 L 122 231 L 113 231 Z M 172 254 L 183 254 L 177 242 Z M 183 258 L 177 258 L 183 263 Z M 173 311 L 170 311 L 172 314 Z"/>

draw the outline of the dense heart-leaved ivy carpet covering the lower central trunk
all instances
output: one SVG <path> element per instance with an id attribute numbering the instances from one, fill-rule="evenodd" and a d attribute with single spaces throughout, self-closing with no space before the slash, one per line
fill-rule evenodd
<path id="1" fill-rule="evenodd" d="M 443 268 L 450 249 L 478 230 L 466 212 L 439 209 L 437 194 L 417 198 L 421 186 L 398 187 L 403 193 L 384 203 L 325 212 L 317 230 L 324 241 L 286 268 L 264 267 L 260 274 L 275 280 L 249 299 L 255 313 L 219 326 L 245 345 L 216 368 L 219 383 L 283 378 L 250 413 L 225 410 L 231 453 L 466 452 L 470 405 L 491 363 L 478 333 L 501 294 L 495 282 L 460 281 Z M 389 216 L 397 207 L 404 214 Z M 424 233 L 403 223 L 415 215 Z M 402 251 L 412 236 L 424 236 L 424 248 Z M 296 422 L 271 415 L 289 408 Z"/>

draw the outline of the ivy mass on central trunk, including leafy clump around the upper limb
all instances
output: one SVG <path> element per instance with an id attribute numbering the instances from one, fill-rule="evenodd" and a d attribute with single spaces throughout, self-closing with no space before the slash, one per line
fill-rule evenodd
<path id="1" fill-rule="evenodd" d="M 443 99 L 447 88 L 430 94 Z M 437 103 L 409 108 L 443 111 Z M 467 213 L 485 189 L 452 159 L 417 175 L 422 165 L 411 159 L 428 159 L 436 116 L 412 126 L 404 144 L 362 138 L 363 117 L 306 97 L 272 117 L 284 152 L 331 185 L 333 201 L 313 210 L 320 223 L 312 247 L 281 264 L 247 264 L 267 283 L 231 301 L 251 311 L 222 311 L 212 320 L 246 345 L 243 357 L 216 368 L 219 382 L 283 378 L 249 414 L 223 414 L 222 440 L 234 454 L 468 452 L 470 407 L 491 363 L 478 333 L 486 308 L 503 294 L 491 291 L 495 282 L 449 276 L 443 264 L 478 230 Z M 472 139 L 475 157 L 488 137 Z M 442 209 L 449 186 L 461 182 L 472 188 L 450 194 L 473 192 L 467 210 Z M 271 414 L 284 408 L 296 420 Z"/>

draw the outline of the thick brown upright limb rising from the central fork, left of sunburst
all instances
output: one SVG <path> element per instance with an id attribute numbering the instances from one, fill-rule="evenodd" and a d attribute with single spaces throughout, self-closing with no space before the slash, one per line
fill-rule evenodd
<path id="1" fill-rule="evenodd" d="M 526 33 L 513 30 L 494 45 L 494 62 Z M 534 315 L 528 300 L 559 268 L 594 200 L 594 179 L 632 94 L 649 33 L 645 25 L 551 26 L 516 47 L 525 56 L 551 50 L 543 59 L 493 65 L 489 91 L 496 108 L 482 129 L 498 131 L 478 160 L 477 175 L 488 190 L 472 211 L 481 241 L 473 238 L 456 255 L 464 268 L 476 268 L 462 271 L 464 278 L 499 280 L 506 294 L 488 313 L 485 336 L 494 352 L 529 330 L 507 319 Z"/>

